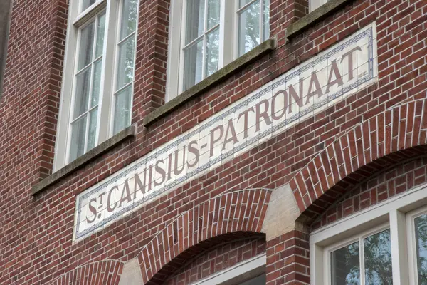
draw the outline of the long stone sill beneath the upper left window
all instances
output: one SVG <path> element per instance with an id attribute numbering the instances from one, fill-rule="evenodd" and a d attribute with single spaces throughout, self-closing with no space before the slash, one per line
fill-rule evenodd
<path id="1" fill-rule="evenodd" d="M 130 125 L 129 127 L 125 128 L 125 130 L 122 130 L 120 133 L 117 133 L 117 135 L 113 135 L 108 140 L 105 140 L 105 142 L 102 142 L 100 145 L 97 145 L 92 150 L 89 150 L 84 155 L 78 157 L 78 159 L 74 160 L 73 162 L 70 162 L 68 165 L 65 165 L 65 167 L 41 180 L 41 182 L 38 182 L 31 188 L 31 195 L 34 196 L 37 193 L 45 190 L 47 187 L 53 185 L 53 183 L 58 182 L 58 180 L 63 179 L 71 172 L 78 170 L 80 167 L 83 167 L 83 165 L 86 165 L 88 162 L 94 160 L 96 157 L 99 157 L 103 153 L 107 152 L 107 150 L 110 150 L 112 147 L 115 147 L 115 145 L 118 145 L 120 142 L 127 140 L 127 138 L 135 137 L 136 130 L 137 128 L 135 127 L 135 125 Z"/>

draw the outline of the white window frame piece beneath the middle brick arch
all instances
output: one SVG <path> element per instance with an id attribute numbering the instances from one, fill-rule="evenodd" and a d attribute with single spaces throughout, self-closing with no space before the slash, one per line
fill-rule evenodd
<path id="1" fill-rule="evenodd" d="M 191 285 L 232 285 L 238 282 L 244 282 L 265 273 L 266 263 L 267 257 L 265 253 L 258 254 L 256 257 L 241 261 L 205 279 L 191 283 Z"/>

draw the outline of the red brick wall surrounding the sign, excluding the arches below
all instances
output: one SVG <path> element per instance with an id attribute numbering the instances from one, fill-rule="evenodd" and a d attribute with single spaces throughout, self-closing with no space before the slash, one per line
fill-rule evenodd
<path id="1" fill-rule="evenodd" d="M 4 98 L 0 102 L 0 284 L 48 284 L 60 274 L 90 262 L 128 261 L 179 214 L 226 191 L 274 189 L 289 183 L 337 136 L 404 100 L 425 98 L 426 1 L 352 1 L 287 41 L 286 26 L 303 14 L 296 12 L 295 6 L 291 0 L 271 1 L 270 28 L 271 35 L 278 38 L 277 50 L 145 129 L 144 115 L 164 102 L 169 4 L 141 0 L 132 115 L 132 123 L 139 125 L 137 138 L 117 145 L 33 198 L 31 186 L 51 172 L 67 6 L 54 0 L 14 1 Z M 102 232 L 72 243 L 75 195 L 371 21 L 376 21 L 378 31 L 377 83 Z M 317 215 L 354 187 L 347 180 L 335 185 L 340 192 L 323 201 Z M 292 232 L 280 237 L 280 242 L 274 239 L 267 244 L 268 251 L 291 241 L 285 249 L 278 247 L 278 261 L 268 259 L 270 284 L 307 284 L 307 244 L 292 247 L 292 241 L 307 240 L 307 234 L 301 239 L 295 237 L 297 234 Z M 280 269 L 283 262 L 285 267 Z M 274 269 L 272 263 L 277 264 Z"/>

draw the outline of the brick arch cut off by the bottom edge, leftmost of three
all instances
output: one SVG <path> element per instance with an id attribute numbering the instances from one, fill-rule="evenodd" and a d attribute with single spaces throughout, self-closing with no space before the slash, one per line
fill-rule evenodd
<path id="1" fill-rule="evenodd" d="M 117 260 L 103 260 L 79 266 L 58 277 L 51 285 L 118 285 L 125 264 Z"/>

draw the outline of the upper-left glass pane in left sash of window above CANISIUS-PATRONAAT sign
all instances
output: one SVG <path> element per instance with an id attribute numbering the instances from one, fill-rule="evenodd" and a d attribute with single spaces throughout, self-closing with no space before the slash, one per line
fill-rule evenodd
<path id="1" fill-rule="evenodd" d="M 190 43 L 204 33 L 205 0 L 187 0 L 185 43 Z"/>

